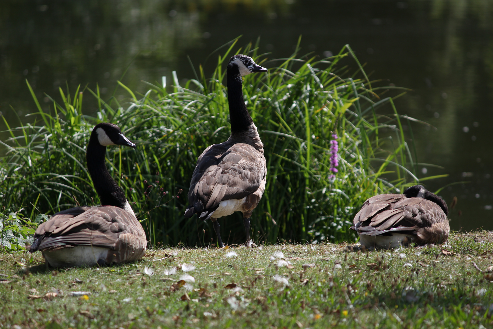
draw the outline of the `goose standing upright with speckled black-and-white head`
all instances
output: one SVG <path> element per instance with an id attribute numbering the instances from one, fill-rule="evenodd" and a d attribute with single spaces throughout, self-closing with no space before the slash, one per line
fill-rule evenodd
<path id="1" fill-rule="evenodd" d="M 217 219 L 243 212 L 246 246 L 250 240 L 250 216 L 265 189 L 267 164 L 264 145 L 257 127 L 246 110 L 242 76 L 267 72 L 245 55 L 231 57 L 227 68 L 231 136 L 221 144 L 207 147 L 199 156 L 188 191 L 189 206 L 185 217 L 197 213 L 202 220 L 211 219 L 219 247 L 224 247 Z"/>

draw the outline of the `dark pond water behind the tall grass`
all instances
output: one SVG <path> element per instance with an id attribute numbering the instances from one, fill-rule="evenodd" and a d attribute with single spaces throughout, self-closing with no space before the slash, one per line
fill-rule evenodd
<path id="1" fill-rule="evenodd" d="M 467 182 L 440 193 L 458 197 L 451 226 L 493 229 L 492 14 L 492 0 L 2 0 L 0 110 L 29 119 L 26 78 L 46 107 L 43 93 L 58 97 L 66 82 L 72 91 L 98 82 L 109 97 L 127 67 L 123 82 L 141 92 L 142 80 L 174 70 L 191 78 L 187 55 L 204 64 L 239 35 L 240 44 L 260 36 L 272 57 L 291 54 L 300 35 L 303 51 L 320 56 L 349 43 L 372 78 L 414 90 L 396 101 L 401 114 L 436 127 L 413 125 L 419 162 L 443 167 L 421 165 L 421 177 L 450 175 L 427 187 Z"/>

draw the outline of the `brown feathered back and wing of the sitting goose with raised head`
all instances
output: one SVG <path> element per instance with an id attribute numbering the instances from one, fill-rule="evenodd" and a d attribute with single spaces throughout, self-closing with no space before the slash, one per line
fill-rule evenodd
<path id="1" fill-rule="evenodd" d="M 33 251 L 63 246 L 97 246 L 115 250 L 120 237 L 125 234 L 142 240 L 140 245 L 145 241 L 141 224 L 126 210 L 113 206 L 77 207 L 57 213 L 39 225 L 34 238 L 40 241 Z"/>

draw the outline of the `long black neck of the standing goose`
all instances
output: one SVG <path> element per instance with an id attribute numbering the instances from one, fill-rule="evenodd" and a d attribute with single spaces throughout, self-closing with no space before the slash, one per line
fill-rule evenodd
<path id="1" fill-rule="evenodd" d="M 246 110 L 243 100 L 243 83 L 237 65 L 229 65 L 227 71 L 229 118 L 231 120 L 231 134 L 247 131 L 253 120 Z"/>

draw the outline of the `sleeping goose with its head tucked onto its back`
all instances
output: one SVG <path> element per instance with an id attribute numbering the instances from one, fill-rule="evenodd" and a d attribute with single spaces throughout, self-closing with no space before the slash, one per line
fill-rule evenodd
<path id="1" fill-rule="evenodd" d="M 450 227 L 445 201 L 422 185 L 404 194 L 380 194 L 363 203 L 351 228 L 366 248 L 395 248 L 406 242 L 418 245 L 447 241 Z"/>

